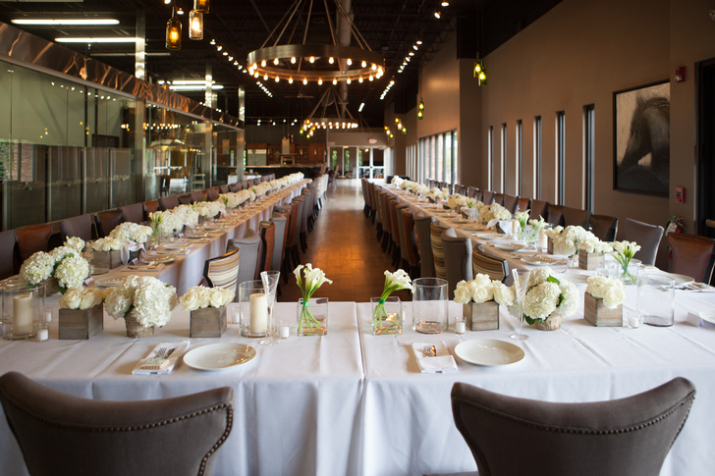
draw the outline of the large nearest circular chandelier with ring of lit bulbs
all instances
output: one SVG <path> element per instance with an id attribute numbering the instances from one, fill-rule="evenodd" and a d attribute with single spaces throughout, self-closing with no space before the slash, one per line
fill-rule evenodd
<path id="1" fill-rule="evenodd" d="M 308 19 L 305 23 L 302 43 L 291 43 L 293 35 L 298 26 L 298 17 L 295 16 L 303 0 L 296 0 L 291 8 L 283 15 L 281 21 L 273 29 L 261 48 L 248 54 L 248 72 L 255 78 L 263 78 L 264 81 L 270 79 L 275 82 L 300 81 L 303 84 L 317 82 L 331 82 L 337 85 L 339 82 L 351 84 L 353 81 L 362 83 L 363 81 L 373 81 L 379 79 L 385 73 L 384 59 L 380 53 L 374 52 L 363 38 L 355 23 L 347 14 L 343 5 L 334 0 L 341 18 L 347 22 L 350 30 L 358 43 L 358 46 L 339 45 L 336 38 L 337 32 L 333 28 L 328 11 L 328 2 L 325 1 L 325 12 L 328 18 L 328 27 L 333 44 L 310 44 L 308 30 L 310 27 L 310 17 L 313 9 L 313 2 L 308 8 Z M 295 18 L 290 37 L 283 44 L 279 44 L 283 34 L 288 30 L 291 21 Z M 272 46 L 266 46 L 281 28 Z"/>

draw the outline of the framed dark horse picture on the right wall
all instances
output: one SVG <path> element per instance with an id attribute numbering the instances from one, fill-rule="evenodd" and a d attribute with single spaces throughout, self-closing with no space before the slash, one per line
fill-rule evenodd
<path id="1" fill-rule="evenodd" d="M 668 196 L 670 82 L 613 93 L 613 188 Z"/>

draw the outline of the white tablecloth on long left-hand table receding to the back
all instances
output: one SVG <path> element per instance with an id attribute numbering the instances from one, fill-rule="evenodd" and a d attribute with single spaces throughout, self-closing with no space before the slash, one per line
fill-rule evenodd
<path id="1" fill-rule="evenodd" d="M 232 228 L 226 229 L 223 233 L 213 236 L 204 243 L 192 242 L 193 246 L 188 255 L 180 257 L 174 263 L 168 264 L 160 271 L 142 272 L 141 276 L 154 276 L 161 281 L 171 284 L 176 288 L 179 296 L 186 293 L 189 288 L 198 286 L 201 283 L 204 272 L 204 263 L 207 259 L 215 258 L 226 253 L 226 245 L 229 240 L 243 238 L 246 232 L 258 230 L 261 221 L 270 220 L 273 216 L 273 208 L 290 203 L 293 198 L 301 194 L 301 190 L 311 180 L 305 179 L 291 185 L 285 190 L 269 195 L 258 206 L 253 206 L 247 212 L 245 219 Z M 112 277 L 124 277 L 130 272 L 122 271 L 123 267 L 113 269 L 107 274 L 94 276 L 96 280 Z"/>

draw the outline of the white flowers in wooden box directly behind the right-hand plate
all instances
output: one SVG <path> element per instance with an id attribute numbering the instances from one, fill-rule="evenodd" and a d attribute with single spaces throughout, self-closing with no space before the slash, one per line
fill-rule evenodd
<path id="1" fill-rule="evenodd" d="M 473 331 L 499 329 L 499 305 L 514 305 L 514 290 L 486 274 L 471 281 L 460 281 L 454 290 L 454 302 L 462 304 L 467 326 Z"/>

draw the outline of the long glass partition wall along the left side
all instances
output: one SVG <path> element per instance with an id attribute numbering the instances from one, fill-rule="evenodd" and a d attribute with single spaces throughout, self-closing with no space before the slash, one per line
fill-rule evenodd
<path id="1" fill-rule="evenodd" d="M 242 130 L 4 62 L 0 104 L 3 230 L 224 184 L 242 170 Z"/>

